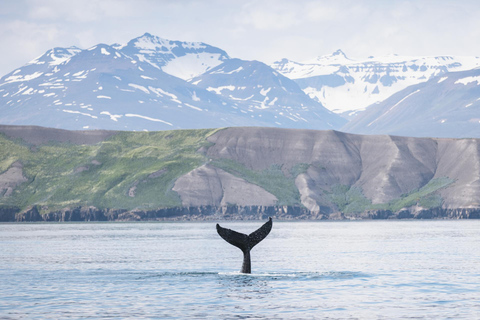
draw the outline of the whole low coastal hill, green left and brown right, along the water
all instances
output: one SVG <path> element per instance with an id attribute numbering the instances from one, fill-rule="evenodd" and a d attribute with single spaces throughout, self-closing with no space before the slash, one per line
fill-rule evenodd
<path id="1" fill-rule="evenodd" d="M 1 221 L 480 217 L 479 139 L 258 127 L 0 133 Z"/>

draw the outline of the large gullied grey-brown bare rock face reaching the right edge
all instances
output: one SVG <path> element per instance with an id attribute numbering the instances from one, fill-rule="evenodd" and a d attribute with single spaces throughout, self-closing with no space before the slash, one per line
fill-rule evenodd
<path id="1" fill-rule="evenodd" d="M 336 131 L 228 128 L 208 140 L 211 159 L 229 159 L 251 170 L 274 165 L 308 170 L 296 177 L 301 203 L 312 212 L 335 185 L 358 187 L 373 204 L 399 199 L 432 179 L 453 181 L 440 191 L 443 207 L 480 207 L 478 139 L 353 135 Z"/>

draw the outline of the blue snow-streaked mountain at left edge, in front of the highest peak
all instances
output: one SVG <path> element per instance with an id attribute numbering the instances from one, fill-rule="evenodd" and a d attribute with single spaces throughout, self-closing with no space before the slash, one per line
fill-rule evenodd
<path id="1" fill-rule="evenodd" d="M 229 116 L 231 106 L 217 95 L 112 46 L 97 45 L 40 68 L 33 75 L 21 68 L 2 78 L 1 123 L 161 130 L 219 126 L 225 114 L 223 125 L 247 123 Z"/>

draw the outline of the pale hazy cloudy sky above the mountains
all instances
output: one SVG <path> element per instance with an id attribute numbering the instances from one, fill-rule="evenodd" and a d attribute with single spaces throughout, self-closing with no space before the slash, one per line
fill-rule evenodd
<path id="1" fill-rule="evenodd" d="M 0 0 L 0 76 L 53 47 L 126 43 L 145 32 L 266 63 L 342 49 L 480 55 L 478 0 Z"/>

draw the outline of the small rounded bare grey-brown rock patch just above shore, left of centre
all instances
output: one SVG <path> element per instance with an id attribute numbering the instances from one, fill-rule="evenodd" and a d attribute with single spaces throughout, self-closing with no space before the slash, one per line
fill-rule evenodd
<path id="1" fill-rule="evenodd" d="M 203 165 L 180 177 L 173 187 L 182 199 L 182 205 L 190 206 L 270 206 L 277 198 L 264 189 L 210 165 Z"/>

